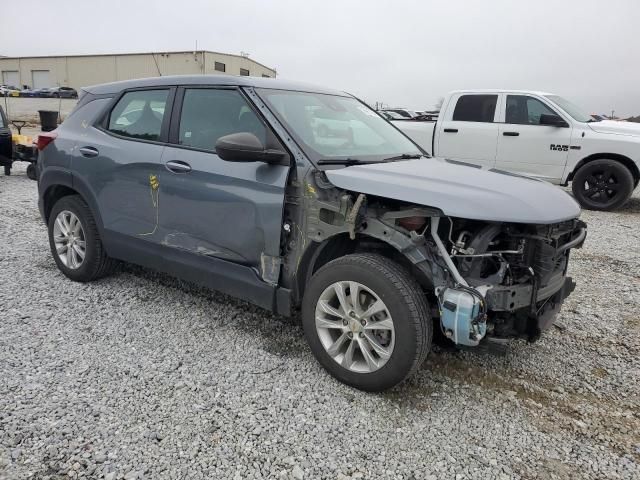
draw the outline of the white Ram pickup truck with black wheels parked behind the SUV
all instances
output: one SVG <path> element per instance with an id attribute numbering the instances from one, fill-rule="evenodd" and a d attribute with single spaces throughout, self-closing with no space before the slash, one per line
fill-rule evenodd
<path id="1" fill-rule="evenodd" d="M 568 185 L 613 210 L 640 181 L 640 124 L 597 121 L 562 97 L 516 90 L 450 93 L 437 122 L 392 122 L 429 154 Z"/>

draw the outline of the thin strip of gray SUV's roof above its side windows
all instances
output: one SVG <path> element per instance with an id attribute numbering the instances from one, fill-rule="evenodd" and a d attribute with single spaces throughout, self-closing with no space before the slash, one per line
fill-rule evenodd
<path id="1" fill-rule="evenodd" d="M 119 82 L 103 83 L 84 87 L 83 90 L 94 95 L 116 94 L 122 90 L 140 87 L 173 86 L 173 85 L 222 85 L 272 88 L 294 90 L 299 92 L 322 93 L 346 96 L 345 92 L 309 85 L 302 82 L 291 82 L 277 78 L 245 77 L 236 75 L 167 75 L 163 77 L 138 78 Z"/>

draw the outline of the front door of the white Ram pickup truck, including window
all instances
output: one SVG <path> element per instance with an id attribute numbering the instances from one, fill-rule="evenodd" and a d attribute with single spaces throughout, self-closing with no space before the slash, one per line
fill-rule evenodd
<path id="1" fill-rule="evenodd" d="M 572 128 L 540 125 L 541 115 L 558 115 L 531 95 L 506 95 L 496 168 L 558 183 L 569 155 Z"/>

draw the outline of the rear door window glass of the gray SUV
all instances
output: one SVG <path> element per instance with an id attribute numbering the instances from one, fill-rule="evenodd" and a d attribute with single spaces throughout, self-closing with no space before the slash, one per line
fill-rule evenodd
<path id="1" fill-rule="evenodd" d="M 125 93 L 111 111 L 107 129 L 123 137 L 159 140 L 168 98 L 168 89 Z"/>

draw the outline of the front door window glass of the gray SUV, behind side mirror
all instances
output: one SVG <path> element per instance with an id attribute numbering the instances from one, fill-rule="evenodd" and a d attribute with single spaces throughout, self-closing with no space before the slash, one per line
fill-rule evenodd
<path id="1" fill-rule="evenodd" d="M 237 90 L 187 88 L 180 114 L 180 145 L 215 151 L 220 137 L 249 132 L 266 145 L 267 129 Z"/>

